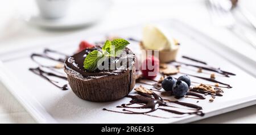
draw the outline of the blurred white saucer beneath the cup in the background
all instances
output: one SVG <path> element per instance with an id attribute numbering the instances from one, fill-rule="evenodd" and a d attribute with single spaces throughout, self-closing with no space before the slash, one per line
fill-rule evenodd
<path id="1" fill-rule="evenodd" d="M 28 23 L 49 29 L 70 29 L 89 26 L 104 17 L 111 5 L 109 0 L 76 0 L 71 2 L 67 15 L 60 19 L 45 19 L 39 14 Z"/>

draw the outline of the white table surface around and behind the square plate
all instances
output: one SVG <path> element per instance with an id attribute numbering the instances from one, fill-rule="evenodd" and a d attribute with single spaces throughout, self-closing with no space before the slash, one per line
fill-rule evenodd
<path id="1" fill-rule="evenodd" d="M 0 15 L 0 52 L 28 44 L 42 44 L 70 34 L 108 31 L 109 29 L 127 27 L 151 20 L 177 18 L 195 26 L 211 23 L 204 0 L 113 0 L 105 17 L 93 26 L 69 31 L 49 31 L 20 21 L 20 18 L 26 17 L 26 14 L 20 13 L 17 9 L 26 6 L 28 7 L 26 10 L 30 10 L 32 8 L 31 3 L 32 0 L 2 1 L 0 12 L 7 14 Z M 255 6 L 253 5 L 256 5 L 256 2 L 244 0 L 242 4 L 248 9 L 254 9 Z M 231 41 L 232 39 L 227 38 L 227 40 Z M 1 83 L 0 123 L 36 123 Z M 256 123 L 256 105 L 194 123 Z"/>

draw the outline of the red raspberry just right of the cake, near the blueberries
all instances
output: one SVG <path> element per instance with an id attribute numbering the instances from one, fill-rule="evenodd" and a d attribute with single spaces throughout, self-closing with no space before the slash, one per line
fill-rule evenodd
<path id="1" fill-rule="evenodd" d="M 147 57 L 142 62 L 141 72 L 144 78 L 154 79 L 159 72 L 159 60 L 154 56 Z"/>

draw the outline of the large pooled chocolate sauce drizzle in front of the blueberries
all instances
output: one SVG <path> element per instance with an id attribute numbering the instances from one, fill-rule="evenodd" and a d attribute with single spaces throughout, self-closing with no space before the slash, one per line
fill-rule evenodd
<path id="1" fill-rule="evenodd" d="M 155 92 L 152 92 L 152 94 L 146 94 L 146 93 L 142 93 L 142 92 L 138 92 L 139 95 L 127 95 L 127 98 L 131 98 L 132 100 L 130 100 L 130 103 L 128 104 L 121 104 L 121 106 L 117 106 L 118 108 L 133 108 L 133 109 L 150 109 L 149 111 L 146 112 L 135 112 L 135 111 L 130 111 L 127 109 L 123 109 L 122 112 L 121 111 L 113 111 L 110 109 L 106 109 L 104 108 L 103 110 L 105 111 L 110 111 L 110 112 L 118 112 L 118 113 L 125 113 L 125 114 L 137 114 L 137 115 L 148 115 L 148 113 L 150 112 L 154 112 L 158 109 L 162 110 L 162 111 L 166 111 L 166 112 L 170 112 L 170 113 L 175 113 L 177 115 L 199 115 L 199 116 L 204 116 L 204 113 L 202 111 L 199 111 L 202 109 L 202 107 L 197 106 L 195 104 L 191 104 L 191 103 L 185 103 L 185 102 L 178 102 L 178 101 L 171 101 L 168 99 L 162 99 L 158 94 L 155 94 Z M 193 111 L 193 112 L 180 112 L 180 111 L 176 111 L 174 109 L 166 109 L 166 108 L 161 108 L 161 107 L 173 107 L 173 106 L 169 106 L 167 103 L 176 103 L 179 104 L 181 106 L 185 106 L 185 107 L 189 107 L 189 108 L 194 108 L 197 111 Z M 142 106 L 139 107 L 131 107 L 131 105 L 133 104 L 141 104 Z M 177 107 L 175 107 L 177 108 Z M 160 117 L 160 116 L 154 116 L 154 117 Z M 166 117 L 162 117 L 162 118 L 166 118 Z"/>

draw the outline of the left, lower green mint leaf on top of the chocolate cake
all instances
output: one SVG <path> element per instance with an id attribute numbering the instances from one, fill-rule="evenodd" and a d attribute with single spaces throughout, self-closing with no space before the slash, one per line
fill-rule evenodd
<path id="1" fill-rule="evenodd" d="M 86 56 L 84 60 L 84 68 L 88 71 L 96 70 L 98 67 L 98 61 L 100 61 L 102 57 L 104 57 L 104 54 L 98 50 L 93 50 Z"/>

